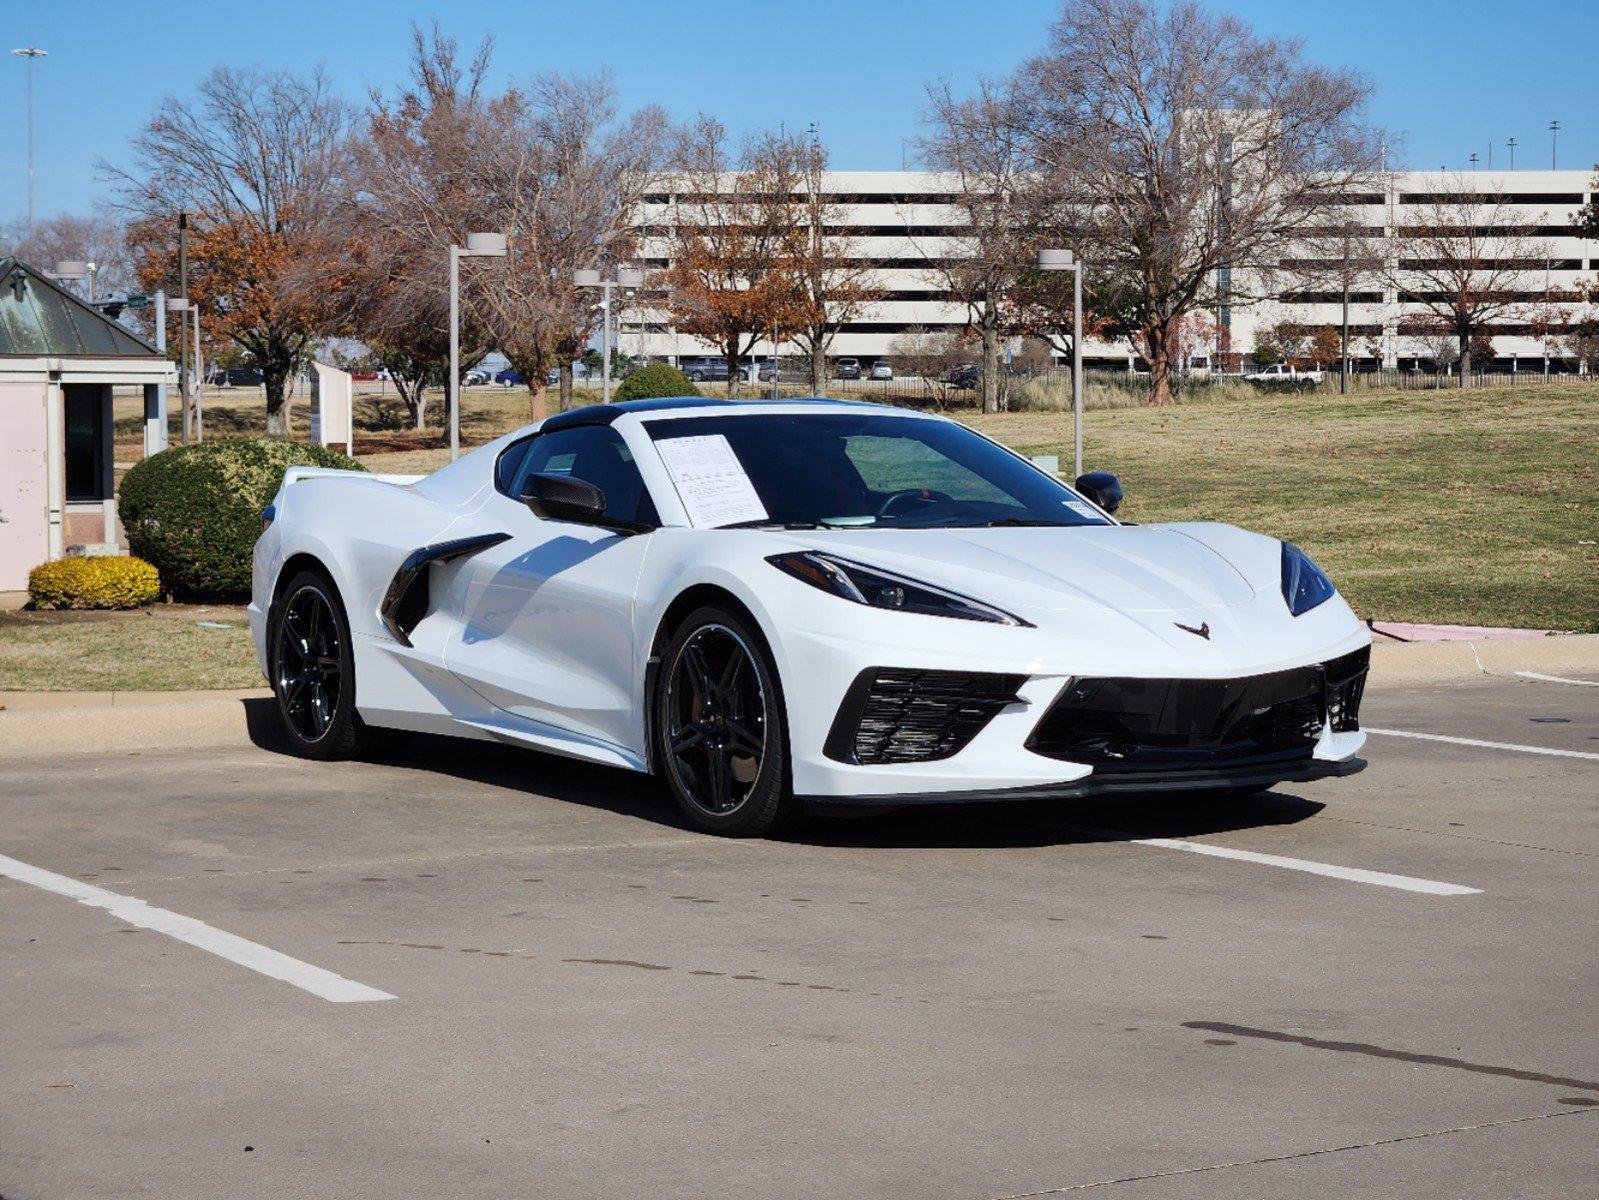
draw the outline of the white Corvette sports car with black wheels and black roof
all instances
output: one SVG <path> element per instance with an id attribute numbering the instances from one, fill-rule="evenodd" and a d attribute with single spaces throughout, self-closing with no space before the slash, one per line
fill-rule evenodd
<path id="1" fill-rule="evenodd" d="M 1370 635 L 1327 576 L 1119 499 L 897 408 L 580 408 L 421 480 L 291 469 L 249 621 L 307 755 L 523 744 L 660 774 L 723 834 L 1361 770 Z"/>

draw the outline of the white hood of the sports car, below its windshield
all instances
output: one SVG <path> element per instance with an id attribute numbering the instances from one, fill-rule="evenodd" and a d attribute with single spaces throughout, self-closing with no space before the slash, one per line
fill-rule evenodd
<path id="1" fill-rule="evenodd" d="M 1204 538 L 1202 530 L 1233 538 Z M 987 530 L 827 530 L 782 534 L 795 549 L 836 554 L 964 592 L 1017 616 L 1111 608 L 1121 613 L 1196 613 L 1255 598 L 1273 539 L 1228 526 L 1049 526 Z"/>

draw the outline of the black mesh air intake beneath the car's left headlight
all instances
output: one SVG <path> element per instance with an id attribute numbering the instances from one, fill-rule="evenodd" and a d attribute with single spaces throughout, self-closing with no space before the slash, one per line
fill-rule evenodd
<path id="1" fill-rule="evenodd" d="M 966 749 L 1025 675 L 871 667 L 844 693 L 822 750 L 841 763 L 924 763 Z"/>

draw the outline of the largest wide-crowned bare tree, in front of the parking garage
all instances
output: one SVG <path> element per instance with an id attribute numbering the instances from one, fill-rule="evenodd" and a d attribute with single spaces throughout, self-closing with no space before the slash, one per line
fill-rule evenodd
<path id="1" fill-rule="evenodd" d="M 1380 165 L 1370 85 L 1300 51 L 1190 0 L 1067 0 L 1017 75 L 1019 134 L 1076 248 L 1137 285 L 1151 403 L 1170 402 L 1183 315 L 1270 294 L 1326 197 Z"/>

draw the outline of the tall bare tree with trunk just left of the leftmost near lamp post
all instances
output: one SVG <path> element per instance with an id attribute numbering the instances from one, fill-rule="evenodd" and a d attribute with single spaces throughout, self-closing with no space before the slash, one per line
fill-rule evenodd
<path id="1" fill-rule="evenodd" d="M 392 98 L 374 91 L 353 139 L 345 318 L 417 429 L 427 426 L 427 387 L 448 374 L 449 246 L 496 227 L 477 186 L 480 147 L 497 133 L 483 88 L 491 50 L 484 40 L 464 64 L 437 24 L 427 35 L 413 27 L 409 86 Z M 488 349 L 470 309 L 462 339 L 467 362 Z"/>

